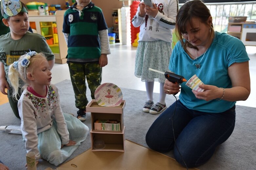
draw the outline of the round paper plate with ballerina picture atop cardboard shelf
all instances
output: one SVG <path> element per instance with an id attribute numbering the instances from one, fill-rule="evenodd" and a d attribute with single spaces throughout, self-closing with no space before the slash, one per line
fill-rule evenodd
<path id="1" fill-rule="evenodd" d="M 94 93 L 95 100 L 100 106 L 119 106 L 123 100 L 121 89 L 113 83 L 99 85 Z"/>

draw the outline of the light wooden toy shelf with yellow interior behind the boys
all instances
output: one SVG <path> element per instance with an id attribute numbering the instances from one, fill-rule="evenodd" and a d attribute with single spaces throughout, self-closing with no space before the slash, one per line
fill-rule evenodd
<path id="1" fill-rule="evenodd" d="M 53 38 L 55 39 L 55 43 L 53 42 L 52 45 L 49 45 L 50 48 L 55 48 L 57 52 L 54 53 L 55 56 L 55 63 L 64 64 L 67 62 L 66 56 L 68 54 L 68 46 L 64 39 L 64 35 L 62 33 L 62 25 L 63 25 L 63 18 L 64 18 L 65 10 L 57 10 L 55 15 L 37 15 L 34 11 L 29 11 L 29 20 L 30 23 L 35 24 L 35 30 L 38 34 L 42 35 L 42 29 L 48 28 L 49 34 L 45 35 L 46 39 Z M 43 23 L 47 23 L 47 25 L 43 25 Z M 56 23 L 56 32 L 58 34 L 54 34 L 52 24 Z M 58 43 L 56 43 L 58 42 Z"/>

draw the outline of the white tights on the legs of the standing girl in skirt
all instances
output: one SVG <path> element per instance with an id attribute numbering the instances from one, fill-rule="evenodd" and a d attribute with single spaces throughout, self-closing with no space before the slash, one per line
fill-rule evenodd
<path id="1" fill-rule="evenodd" d="M 164 93 L 164 84 L 165 83 L 160 83 L 160 94 L 159 94 L 159 99 L 157 101 L 158 103 L 161 103 L 161 104 L 166 104 L 165 103 L 166 94 Z M 148 100 L 153 101 L 154 82 L 145 82 L 145 85 L 146 85 Z"/>

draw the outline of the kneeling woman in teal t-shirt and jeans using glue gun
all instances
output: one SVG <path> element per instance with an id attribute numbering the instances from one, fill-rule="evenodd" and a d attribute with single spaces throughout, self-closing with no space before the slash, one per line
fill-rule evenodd
<path id="1" fill-rule="evenodd" d="M 166 80 L 166 94 L 181 91 L 179 100 L 153 122 L 146 142 L 158 152 L 173 149 L 179 163 L 195 167 L 207 162 L 234 130 L 235 103 L 250 94 L 249 57 L 241 40 L 213 30 L 201 0 L 187 1 L 179 9 L 175 29 L 179 42 L 169 70 L 187 80 L 196 74 L 204 90 Z"/>

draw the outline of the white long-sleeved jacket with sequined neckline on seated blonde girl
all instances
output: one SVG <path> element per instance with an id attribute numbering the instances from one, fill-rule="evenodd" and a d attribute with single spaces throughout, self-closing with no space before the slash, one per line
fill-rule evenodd
<path id="1" fill-rule="evenodd" d="M 69 143 L 69 131 L 60 106 L 58 89 L 55 85 L 49 85 L 47 90 L 46 97 L 40 98 L 26 88 L 18 101 L 25 148 L 27 152 L 35 152 L 36 161 L 41 158 L 37 147 L 37 134 L 50 129 L 54 119 L 61 136 L 61 143 L 63 145 Z"/>

